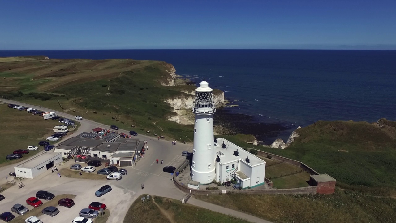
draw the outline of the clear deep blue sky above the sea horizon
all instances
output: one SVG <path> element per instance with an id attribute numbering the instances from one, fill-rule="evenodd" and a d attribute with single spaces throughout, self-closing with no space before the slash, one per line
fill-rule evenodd
<path id="1" fill-rule="evenodd" d="M 396 49 L 395 0 L 12 0 L 0 21 L 0 50 Z"/>

